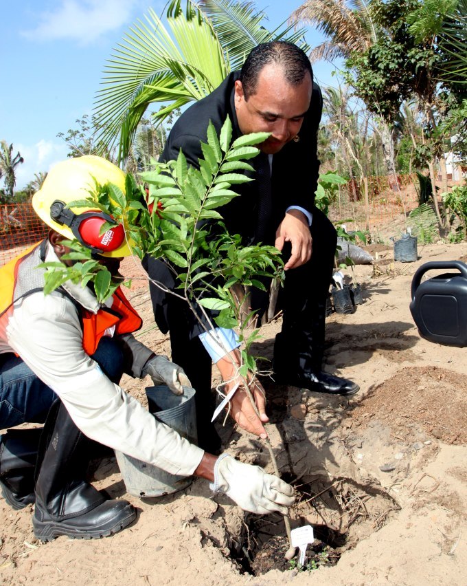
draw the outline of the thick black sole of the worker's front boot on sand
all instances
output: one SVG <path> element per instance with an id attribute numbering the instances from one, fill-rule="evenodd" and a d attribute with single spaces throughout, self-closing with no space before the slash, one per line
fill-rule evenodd
<path id="1" fill-rule="evenodd" d="M 67 521 L 39 521 L 35 517 L 32 517 L 32 527 L 34 536 L 40 541 L 52 541 L 60 535 L 66 535 L 70 539 L 100 539 L 121 531 L 135 521 L 136 510 L 133 505 L 128 504 L 122 513 L 126 513 L 126 516 L 120 517 L 117 521 L 113 519 L 99 528 L 92 525 L 76 528 L 72 524 L 67 525 Z M 72 523 L 73 519 L 69 519 L 69 521 Z"/>

